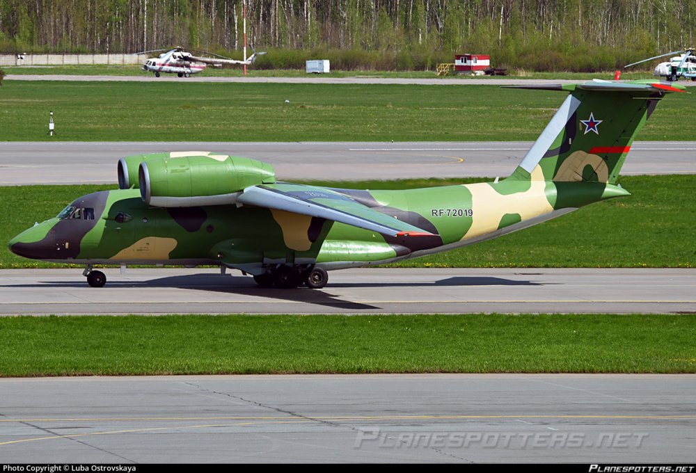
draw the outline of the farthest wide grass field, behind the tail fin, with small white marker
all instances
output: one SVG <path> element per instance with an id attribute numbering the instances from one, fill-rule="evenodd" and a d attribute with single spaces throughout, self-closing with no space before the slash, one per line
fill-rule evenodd
<path id="1" fill-rule="evenodd" d="M 5 81 L 0 141 L 533 141 L 564 97 L 497 86 Z M 693 95 L 667 97 L 640 139 L 694 136 L 693 108 Z"/>

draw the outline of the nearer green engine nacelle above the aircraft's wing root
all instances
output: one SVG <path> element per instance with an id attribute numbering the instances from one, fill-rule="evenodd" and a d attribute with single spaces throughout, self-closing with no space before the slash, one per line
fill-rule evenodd
<path id="1" fill-rule="evenodd" d="M 226 154 L 200 154 L 148 159 L 140 164 L 140 193 L 148 205 L 194 207 L 229 205 L 244 188 L 273 184 L 273 166 Z"/>

